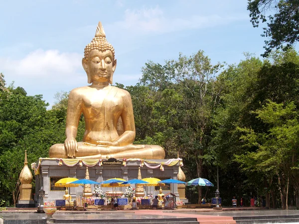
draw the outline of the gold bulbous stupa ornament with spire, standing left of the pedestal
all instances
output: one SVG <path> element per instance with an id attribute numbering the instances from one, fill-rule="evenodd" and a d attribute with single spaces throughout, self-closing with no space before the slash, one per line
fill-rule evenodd
<path id="1" fill-rule="evenodd" d="M 21 182 L 19 200 L 31 200 L 31 192 L 32 192 L 31 182 L 33 180 L 33 177 L 28 167 L 27 150 L 25 150 L 24 167 L 20 173 L 19 180 Z"/>

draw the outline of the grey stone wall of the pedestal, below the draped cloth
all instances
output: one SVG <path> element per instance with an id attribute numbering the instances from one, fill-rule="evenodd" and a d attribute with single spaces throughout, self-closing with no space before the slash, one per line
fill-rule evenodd
<path id="1" fill-rule="evenodd" d="M 157 163 L 164 163 L 168 160 L 158 159 L 152 160 Z M 125 180 L 137 179 L 138 178 L 138 169 L 141 165 L 140 161 L 127 161 L 126 166 L 124 165 L 95 165 L 89 166 L 89 177 L 90 180 L 101 182 L 108 180 L 110 178 L 123 178 Z M 179 162 L 173 166 L 163 166 L 163 171 L 160 168 L 150 169 L 147 166 L 141 167 L 142 178 L 146 177 L 155 177 L 159 179 L 177 179 L 177 173 L 179 168 Z M 53 187 L 54 181 L 57 181 L 59 178 L 64 177 L 74 177 L 78 179 L 84 179 L 86 172 L 86 165 L 76 164 L 74 166 L 67 166 L 60 163 L 58 159 L 42 159 L 40 160 L 39 174 L 36 175 L 36 188 L 35 188 L 35 202 L 38 204 L 39 197 L 38 191 L 41 187 L 45 191 L 44 200 L 58 200 L 62 199 L 65 191 L 63 188 Z M 52 183 L 51 183 L 52 181 Z M 93 189 L 93 185 L 91 188 Z M 134 186 L 133 186 L 134 187 Z M 126 187 L 117 188 L 118 191 L 125 191 Z M 112 188 L 102 188 L 104 192 L 111 191 Z M 115 189 L 114 189 L 115 190 Z M 144 187 L 146 195 L 157 195 L 158 189 L 155 187 Z M 76 188 L 69 188 L 69 194 L 73 199 L 76 196 L 82 195 L 83 187 L 79 186 Z M 163 190 L 163 194 L 173 193 L 179 197 L 177 185 L 170 185 L 170 190 Z"/>

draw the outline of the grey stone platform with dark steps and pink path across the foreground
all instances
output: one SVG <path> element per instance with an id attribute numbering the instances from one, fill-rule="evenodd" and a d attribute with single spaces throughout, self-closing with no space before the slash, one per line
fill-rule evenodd
<path id="1" fill-rule="evenodd" d="M 30 212 L 31 211 L 31 212 Z M 0 224 L 46 224 L 46 215 L 32 209 L 7 209 L 0 212 Z M 51 223 L 59 224 L 256 224 L 298 223 L 296 210 L 260 208 L 176 209 L 144 211 L 57 211 Z M 48 222 L 49 223 L 49 222 Z"/>

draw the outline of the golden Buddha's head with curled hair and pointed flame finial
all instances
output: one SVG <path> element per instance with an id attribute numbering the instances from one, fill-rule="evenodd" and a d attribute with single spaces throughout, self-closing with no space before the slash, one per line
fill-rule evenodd
<path id="1" fill-rule="evenodd" d="M 108 43 L 102 23 L 99 22 L 95 37 L 84 49 L 83 68 L 88 83 L 107 82 L 112 84 L 116 59 L 113 46 Z"/>

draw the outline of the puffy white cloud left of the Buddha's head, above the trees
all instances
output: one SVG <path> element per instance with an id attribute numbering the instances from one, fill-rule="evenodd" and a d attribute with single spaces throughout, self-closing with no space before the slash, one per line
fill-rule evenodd
<path id="1" fill-rule="evenodd" d="M 7 84 L 23 87 L 29 95 L 45 94 L 51 101 L 57 91 L 69 91 L 87 83 L 82 55 L 38 49 L 21 59 L 1 58 L 0 69 Z"/>

